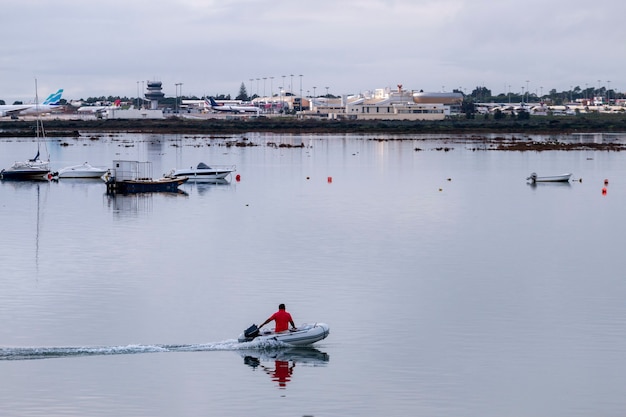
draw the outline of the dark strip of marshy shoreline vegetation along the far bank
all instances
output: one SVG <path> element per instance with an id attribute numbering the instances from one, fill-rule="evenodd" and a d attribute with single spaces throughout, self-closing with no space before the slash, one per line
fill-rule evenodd
<path id="1" fill-rule="evenodd" d="M 153 133 L 245 135 L 272 132 L 277 134 L 398 134 L 398 135 L 472 135 L 471 141 L 487 143 L 483 149 L 493 150 L 626 150 L 620 141 L 589 142 L 533 141 L 524 135 L 568 135 L 581 133 L 626 133 L 626 115 L 585 114 L 576 116 L 535 116 L 528 120 L 494 120 L 451 118 L 443 121 L 327 120 L 276 118 L 186 119 L 161 120 L 71 120 L 49 119 L 45 122 L 48 137 L 90 137 L 95 133 Z M 0 138 L 34 137 L 35 121 L 0 121 Z M 505 139 L 499 134 L 521 135 Z M 495 135 L 495 136 L 494 136 Z M 402 138 L 399 138 L 400 140 Z M 407 138 L 408 139 L 408 138 Z M 376 140 L 376 139 L 373 139 Z M 381 139 L 384 140 L 384 139 Z M 583 143 L 584 142 L 584 143 Z M 242 138 L 241 145 L 253 146 Z"/>

